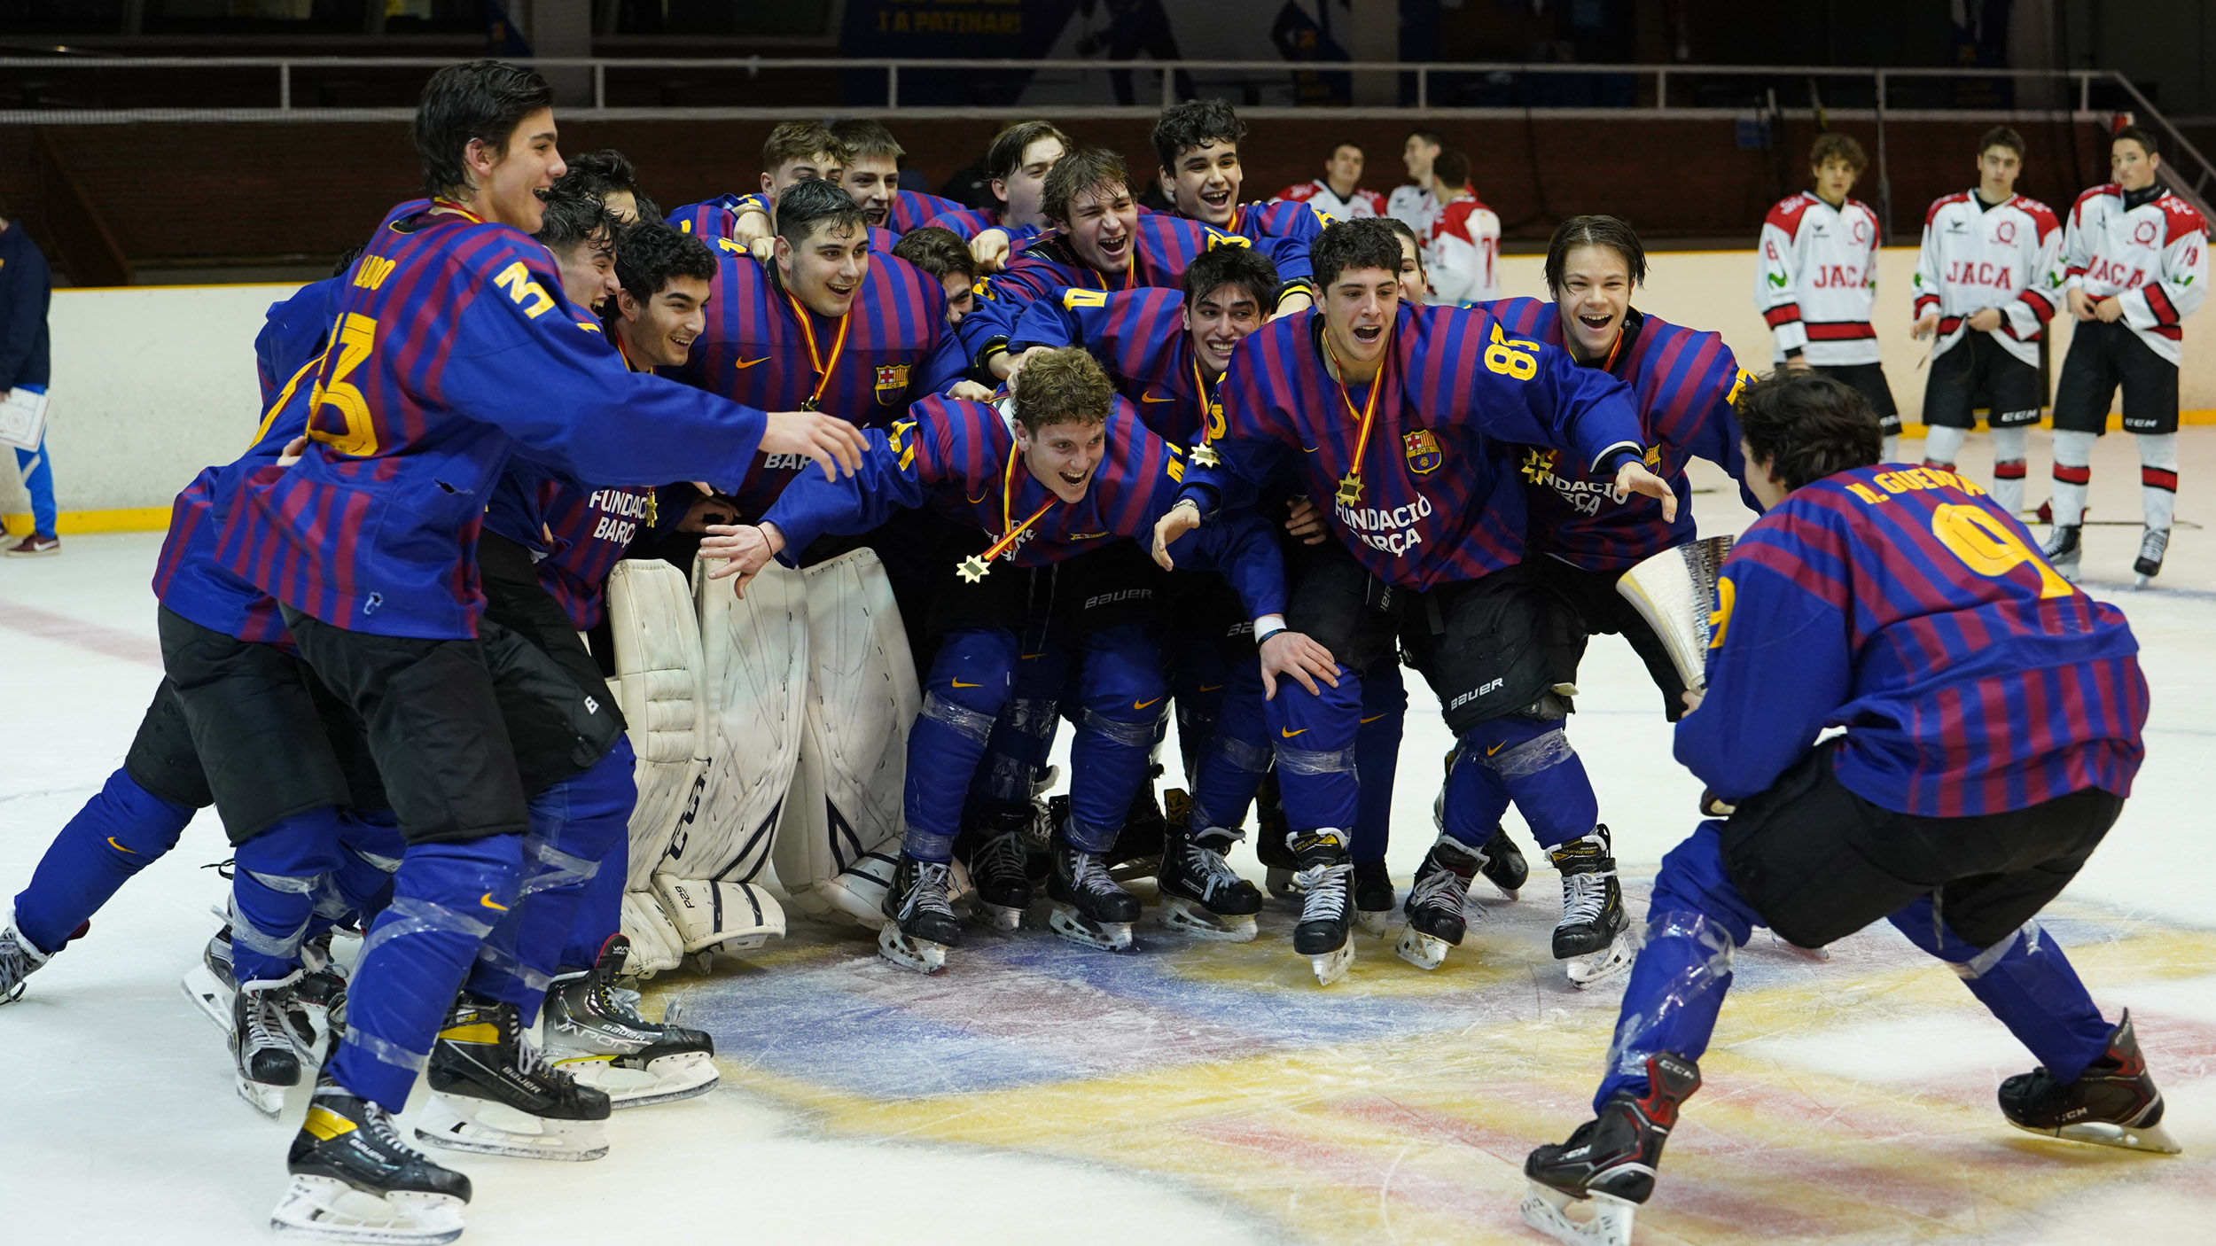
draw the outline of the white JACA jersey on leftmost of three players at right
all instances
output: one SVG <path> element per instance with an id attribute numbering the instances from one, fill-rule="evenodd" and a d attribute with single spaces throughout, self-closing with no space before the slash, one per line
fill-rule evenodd
<path id="1" fill-rule="evenodd" d="M 1833 208 L 1810 191 L 1762 217 L 1755 310 L 1771 324 L 1771 359 L 1877 364 L 1877 213 L 1859 200 Z"/>

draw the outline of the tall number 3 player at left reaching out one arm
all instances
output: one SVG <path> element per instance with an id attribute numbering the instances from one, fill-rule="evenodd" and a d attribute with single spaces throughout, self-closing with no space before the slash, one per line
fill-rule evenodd
<path id="1" fill-rule="evenodd" d="M 363 938 L 346 1040 L 293 1140 L 275 1213 L 290 1230 L 461 1233 L 468 1177 L 401 1142 L 390 1113 L 521 891 L 530 816 L 501 716 L 516 690 L 476 639 L 474 568 L 510 455 L 654 483 L 738 479 L 758 448 L 824 455 L 827 470 L 855 452 L 842 421 L 765 417 L 623 368 L 530 237 L 563 173 L 550 104 L 545 80 L 499 62 L 425 84 L 414 137 L 434 200 L 377 228 L 315 370 L 312 441 L 290 470 L 246 483 L 217 552 L 279 601 L 301 661 L 366 723 L 408 840 L 392 905 Z M 594 701 L 576 696 L 589 716 Z M 488 1038 L 538 1073 L 512 1029 Z M 605 1117 L 605 1095 L 567 1097 L 598 1097 Z"/>

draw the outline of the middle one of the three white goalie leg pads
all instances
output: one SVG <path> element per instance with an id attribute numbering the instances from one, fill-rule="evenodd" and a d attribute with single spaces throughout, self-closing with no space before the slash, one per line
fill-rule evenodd
<path id="1" fill-rule="evenodd" d="M 731 581 L 707 579 L 702 568 L 694 581 L 707 769 L 656 874 L 753 882 L 769 862 L 771 831 L 800 758 L 807 583 L 778 563 L 747 585 L 747 596 L 736 596 Z"/>

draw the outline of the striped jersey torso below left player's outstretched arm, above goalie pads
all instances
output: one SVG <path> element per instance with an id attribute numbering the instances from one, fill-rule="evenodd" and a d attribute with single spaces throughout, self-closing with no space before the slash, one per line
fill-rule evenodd
<path id="1" fill-rule="evenodd" d="M 607 574 L 654 510 L 652 488 L 592 488 L 530 459 L 510 459 L 485 508 L 485 532 L 538 554 L 538 588 L 578 632 L 589 632 L 601 623 Z"/>

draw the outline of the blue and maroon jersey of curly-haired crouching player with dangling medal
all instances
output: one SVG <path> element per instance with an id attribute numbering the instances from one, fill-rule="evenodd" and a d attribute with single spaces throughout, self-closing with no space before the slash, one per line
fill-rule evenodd
<path id="1" fill-rule="evenodd" d="M 869 430 L 862 470 L 838 483 L 807 472 L 769 508 L 765 523 L 784 534 L 784 563 L 824 532 L 869 532 L 897 510 L 929 505 L 948 519 L 1004 537 L 1039 514 L 999 554 L 1017 568 L 1044 568 L 1126 537 L 1155 548 L 1155 521 L 1177 503 L 1186 459 L 1155 437 L 1124 399 L 1108 412 L 1106 448 L 1084 501 L 1070 505 L 1017 461 L 1015 432 L 997 408 L 926 397 L 891 428 Z M 1053 499 L 1053 501 L 1050 501 Z M 1044 512 L 1042 512 L 1044 505 Z M 1013 523 L 1010 523 L 1013 521 Z M 1208 532 L 1221 528 L 1221 532 Z M 1285 568 L 1276 537 L 1252 514 L 1190 532 L 1170 556 L 1179 568 L 1223 570 L 1259 619 L 1285 610 Z"/>

